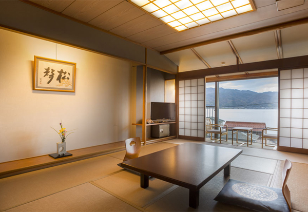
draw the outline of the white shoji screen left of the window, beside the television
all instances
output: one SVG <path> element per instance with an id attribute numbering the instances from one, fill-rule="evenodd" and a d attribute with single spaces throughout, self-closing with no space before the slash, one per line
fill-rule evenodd
<path id="1" fill-rule="evenodd" d="M 179 81 L 179 138 L 204 141 L 204 78 Z"/>

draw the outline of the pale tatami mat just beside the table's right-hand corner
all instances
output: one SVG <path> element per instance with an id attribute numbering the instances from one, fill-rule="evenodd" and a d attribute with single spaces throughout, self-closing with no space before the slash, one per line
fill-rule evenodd
<path id="1" fill-rule="evenodd" d="M 240 155 L 231 163 L 231 166 L 274 174 L 276 164 L 277 160 Z"/>

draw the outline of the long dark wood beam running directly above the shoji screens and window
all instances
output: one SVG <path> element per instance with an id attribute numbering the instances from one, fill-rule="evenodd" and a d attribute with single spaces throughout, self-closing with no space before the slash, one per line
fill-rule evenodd
<path id="1" fill-rule="evenodd" d="M 195 71 L 185 71 L 178 73 L 179 80 L 183 79 L 196 79 L 203 78 L 210 75 L 219 75 L 227 73 L 236 73 L 236 72 L 247 72 L 247 71 L 257 71 L 257 70 L 266 70 L 266 69 L 287 69 L 294 67 L 308 66 L 308 55 L 289 57 L 284 59 L 277 59 L 271 61 L 261 61 L 255 63 L 245 63 L 232 66 L 223 66 L 216 68 L 206 68 Z"/>

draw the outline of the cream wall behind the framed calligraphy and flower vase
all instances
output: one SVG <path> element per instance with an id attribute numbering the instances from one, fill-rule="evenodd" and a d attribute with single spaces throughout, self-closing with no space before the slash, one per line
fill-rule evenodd
<path id="1" fill-rule="evenodd" d="M 131 134 L 132 69 L 126 61 L 0 29 L 0 162 L 56 152 L 60 121 L 67 150 Z M 75 93 L 34 91 L 34 55 L 76 63 Z"/>

